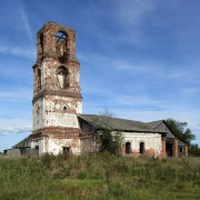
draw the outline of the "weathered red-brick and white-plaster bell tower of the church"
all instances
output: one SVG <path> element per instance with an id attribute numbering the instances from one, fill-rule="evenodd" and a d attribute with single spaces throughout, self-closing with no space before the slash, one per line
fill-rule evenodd
<path id="1" fill-rule="evenodd" d="M 76 31 L 47 22 L 37 33 L 33 66 L 33 132 L 31 149 L 39 154 L 80 153 L 78 114 L 82 112 Z"/>

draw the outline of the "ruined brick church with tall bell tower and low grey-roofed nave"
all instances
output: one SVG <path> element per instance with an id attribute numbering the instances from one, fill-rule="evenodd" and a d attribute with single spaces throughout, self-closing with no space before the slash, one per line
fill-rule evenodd
<path id="1" fill-rule="evenodd" d="M 82 113 L 73 29 L 47 22 L 38 31 L 37 40 L 37 61 L 32 67 L 32 133 L 7 150 L 8 154 L 97 152 L 97 133 L 102 131 L 103 121 L 109 121 L 112 131 L 123 136 L 123 154 L 188 156 L 188 144 L 164 120 L 140 122 Z"/>

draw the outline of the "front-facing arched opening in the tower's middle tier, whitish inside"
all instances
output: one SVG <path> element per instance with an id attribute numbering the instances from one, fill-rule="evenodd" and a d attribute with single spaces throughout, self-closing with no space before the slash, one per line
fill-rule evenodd
<path id="1" fill-rule="evenodd" d="M 58 86 L 60 88 L 68 88 L 69 87 L 69 71 L 66 67 L 60 67 L 57 72 L 58 77 Z"/>

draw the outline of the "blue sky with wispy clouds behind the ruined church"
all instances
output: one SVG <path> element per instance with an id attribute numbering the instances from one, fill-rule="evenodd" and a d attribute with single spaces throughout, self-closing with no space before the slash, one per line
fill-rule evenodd
<path id="1" fill-rule="evenodd" d="M 77 31 L 83 113 L 188 122 L 200 144 L 199 0 L 1 0 L 0 151 L 31 132 L 36 33 Z"/>

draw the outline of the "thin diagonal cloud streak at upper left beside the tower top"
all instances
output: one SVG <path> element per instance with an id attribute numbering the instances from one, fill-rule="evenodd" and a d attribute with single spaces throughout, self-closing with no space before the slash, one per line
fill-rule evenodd
<path id="1" fill-rule="evenodd" d="M 27 31 L 28 38 L 29 38 L 29 40 L 31 42 L 31 46 L 33 47 L 34 46 L 33 36 L 32 36 L 32 31 L 31 31 L 31 27 L 30 27 L 30 22 L 29 22 L 28 16 L 26 14 L 26 11 L 24 11 L 23 8 L 20 8 L 19 12 L 20 12 L 20 16 L 22 18 L 22 21 L 23 21 L 24 29 Z"/>

